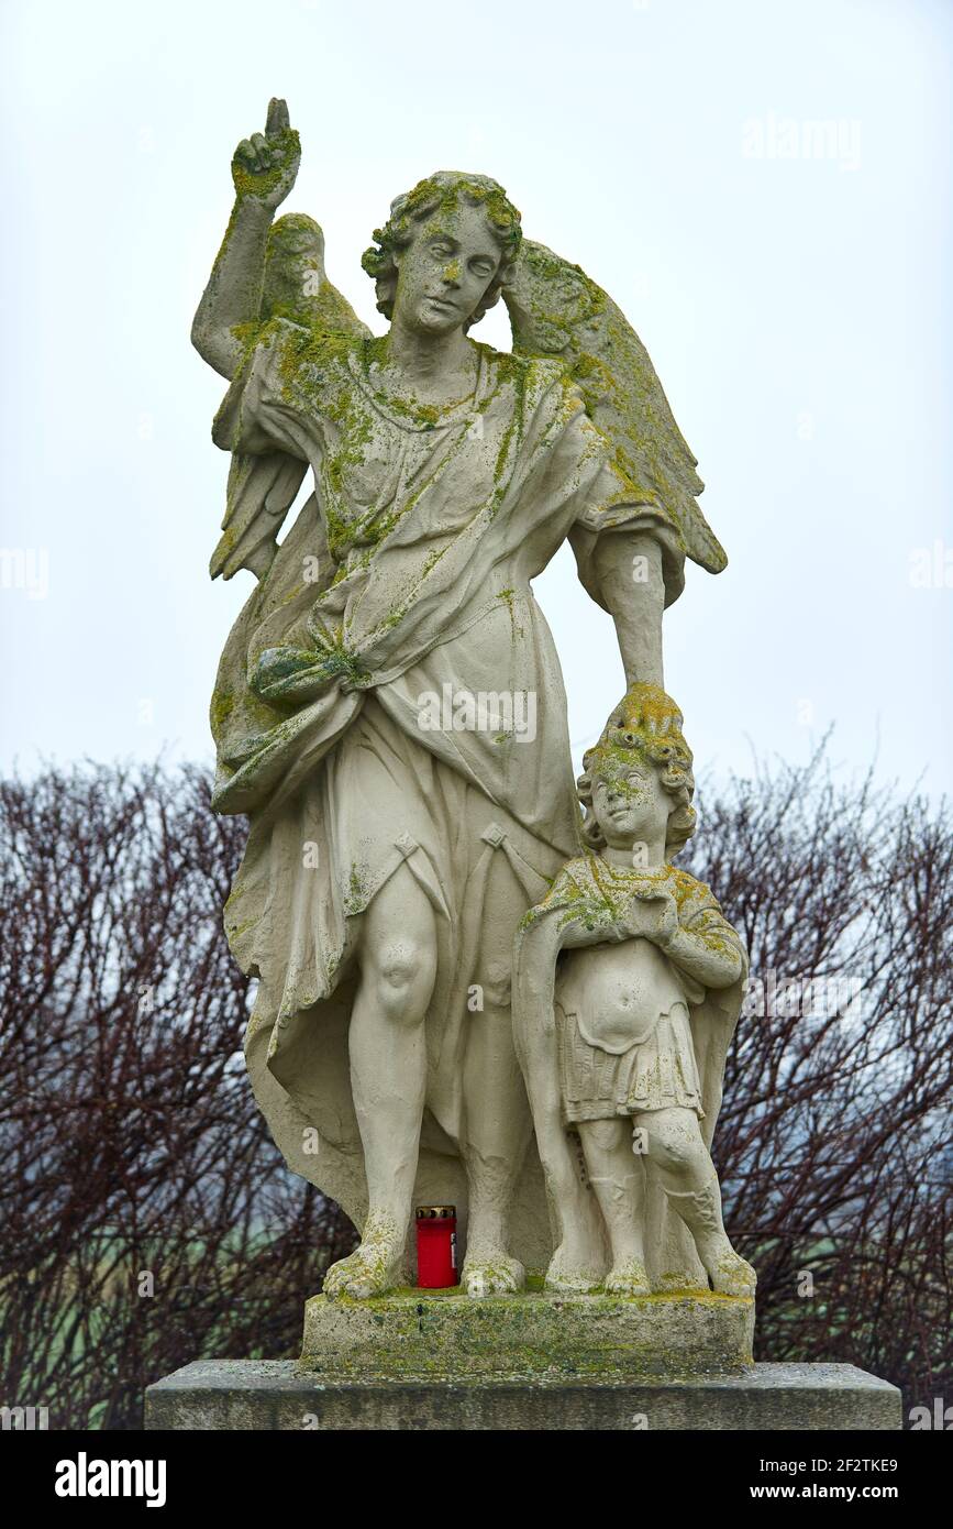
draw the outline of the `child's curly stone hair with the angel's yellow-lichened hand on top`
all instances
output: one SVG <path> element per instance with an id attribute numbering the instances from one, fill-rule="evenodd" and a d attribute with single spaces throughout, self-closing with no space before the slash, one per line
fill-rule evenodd
<path id="1" fill-rule="evenodd" d="M 692 838 L 696 812 L 692 806 L 695 775 L 692 751 L 683 734 L 683 716 L 658 685 L 632 685 L 625 700 L 615 706 L 599 743 L 582 760 L 583 774 L 576 781 L 583 806 L 582 836 L 591 849 L 602 849 L 605 838 L 593 812 L 593 777 L 603 760 L 625 758 L 631 751 L 640 763 L 657 771 L 672 798 L 666 829 L 666 853 L 675 855 Z"/>

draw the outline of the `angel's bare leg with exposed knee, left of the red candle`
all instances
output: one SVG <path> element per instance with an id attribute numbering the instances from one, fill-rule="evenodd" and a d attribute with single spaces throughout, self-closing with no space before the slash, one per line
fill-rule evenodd
<path id="1" fill-rule="evenodd" d="M 328 1269 L 325 1295 L 379 1295 L 403 1268 L 426 1083 L 423 1021 L 437 968 L 434 911 L 406 865 L 363 914 L 359 960 L 348 1040 L 368 1217 L 356 1251 Z"/>

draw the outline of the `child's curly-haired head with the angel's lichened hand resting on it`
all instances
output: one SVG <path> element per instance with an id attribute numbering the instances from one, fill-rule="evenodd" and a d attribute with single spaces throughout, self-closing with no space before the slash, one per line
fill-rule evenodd
<path id="1" fill-rule="evenodd" d="M 664 832 L 675 855 L 695 832 L 692 751 L 678 706 L 657 685 L 632 685 L 582 761 L 582 833 L 593 849 L 631 847 Z"/>

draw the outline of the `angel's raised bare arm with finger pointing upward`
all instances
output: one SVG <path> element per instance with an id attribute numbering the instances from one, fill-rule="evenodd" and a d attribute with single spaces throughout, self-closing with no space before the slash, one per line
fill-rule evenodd
<path id="1" fill-rule="evenodd" d="M 235 206 L 192 320 L 195 350 L 229 381 L 243 353 L 238 326 L 258 320 L 275 208 L 295 185 L 299 162 L 301 144 L 289 125 L 287 106 L 272 99 L 264 133 L 244 138 L 232 157 Z"/>

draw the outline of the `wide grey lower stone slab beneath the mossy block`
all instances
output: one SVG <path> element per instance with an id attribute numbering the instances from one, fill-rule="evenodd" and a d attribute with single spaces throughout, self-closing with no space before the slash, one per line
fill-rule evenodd
<path id="1" fill-rule="evenodd" d="M 696 1379 L 328 1379 L 292 1359 L 200 1359 L 145 1393 L 147 1430 L 867 1431 L 895 1385 L 852 1364 L 758 1364 Z"/>

